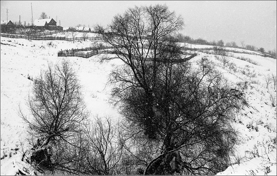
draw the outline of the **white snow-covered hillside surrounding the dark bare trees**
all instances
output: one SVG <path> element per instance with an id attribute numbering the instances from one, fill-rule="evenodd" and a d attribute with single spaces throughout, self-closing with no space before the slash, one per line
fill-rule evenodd
<path id="1" fill-rule="evenodd" d="M 47 62 L 56 63 L 65 58 L 57 56 L 57 52 L 61 49 L 84 48 L 92 43 L 92 41 L 75 43 L 59 40 L 31 41 L 1 37 L 1 175 L 14 175 L 18 170 L 24 172 L 24 167 L 27 167 L 21 161 L 26 135 L 18 110 L 20 106 L 28 113 L 25 101 L 33 84 L 30 79 L 38 76 L 40 70 L 47 67 Z M 234 84 L 244 81 L 250 83 L 246 90 L 250 107 L 245 107 L 234 117 L 234 126 L 240 132 L 240 140 L 231 162 L 240 161 L 240 164 L 233 164 L 218 175 L 264 175 L 266 167 L 270 168 L 267 175 L 276 175 L 276 106 L 273 107 L 270 101 L 270 94 L 276 96 L 276 92 L 273 84 L 269 85 L 269 89 L 265 88 L 263 80 L 263 75 L 276 75 L 276 59 L 233 53 L 232 67 L 228 64 L 223 69 L 214 55 L 202 52 L 197 54 L 189 62 L 195 63 L 202 56 L 207 56 Z M 241 56 L 252 59 L 257 65 L 235 58 Z M 106 83 L 115 65 L 123 62 L 115 59 L 100 63 L 97 55 L 88 59 L 80 57 L 67 57 L 67 59 L 73 63 L 77 71 L 83 86 L 84 100 L 91 115 L 111 116 L 115 120 L 120 118 L 117 109 L 108 102 L 111 87 Z"/>

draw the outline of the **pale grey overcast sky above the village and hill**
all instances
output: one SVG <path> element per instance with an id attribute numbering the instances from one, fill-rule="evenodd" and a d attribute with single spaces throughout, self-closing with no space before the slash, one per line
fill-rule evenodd
<path id="1" fill-rule="evenodd" d="M 62 27 L 96 23 L 106 25 L 114 15 L 135 5 L 167 4 L 181 14 L 186 26 L 181 33 L 208 41 L 240 41 L 246 44 L 276 48 L 276 1 L 32 1 L 33 18 L 41 12 Z M 1 21 L 31 21 L 31 1 L 1 1 Z"/>

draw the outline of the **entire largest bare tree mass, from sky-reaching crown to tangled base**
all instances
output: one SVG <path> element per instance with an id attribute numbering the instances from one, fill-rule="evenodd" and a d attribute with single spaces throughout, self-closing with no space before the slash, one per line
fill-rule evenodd
<path id="1" fill-rule="evenodd" d="M 247 104 L 207 59 L 193 71 L 168 35 L 183 20 L 166 5 L 129 8 L 99 38 L 115 47 L 103 59 L 125 64 L 110 75 L 112 102 L 124 117 L 126 172 L 214 174 L 227 168 L 236 141 L 232 113 Z M 99 30 L 100 31 L 100 30 Z"/>

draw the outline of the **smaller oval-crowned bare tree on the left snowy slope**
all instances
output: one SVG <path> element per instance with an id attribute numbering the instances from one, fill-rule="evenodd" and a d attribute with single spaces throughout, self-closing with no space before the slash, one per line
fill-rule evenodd
<path id="1" fill-rule="evenodd" d="M 31 114 L 26 116 L 20 109 L 19 115 L 33 145 L 28 162 L 54 170 L 64 161 L 62 155 L 68 156 L 64 152 L 79 144 L 80 125 L 88 116 L 71 64 L 66 60 L 49 64 L 34 80 L 27 105 Z"/>

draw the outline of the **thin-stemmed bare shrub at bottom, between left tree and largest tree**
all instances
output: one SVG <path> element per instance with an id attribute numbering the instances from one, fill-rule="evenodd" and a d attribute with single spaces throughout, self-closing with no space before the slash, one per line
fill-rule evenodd
<path id="1" fill-rule="evenodd" d="M 71 170 L 85 175 L 120 174 L 119 162 L 122 155 L 118 142 L 119 129 L 109 117 L 94 118 L 84 125 L 83 140 L 80 141 L 79 159 Z"/>

